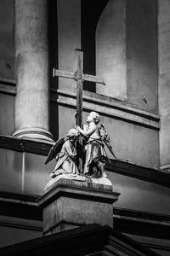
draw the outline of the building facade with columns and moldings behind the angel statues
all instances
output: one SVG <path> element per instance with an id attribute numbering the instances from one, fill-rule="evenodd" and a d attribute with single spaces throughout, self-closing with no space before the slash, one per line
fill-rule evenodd
<path id="1" fill-rule="evenodd" d="M 170 3 L 168 0 L 1 0 L 0 246 L 42 236 L 37 199 L 55 162 L 48 150 L 75 125 L 83 72 L 83 123 L 99 112 L 118 160 L 106 165 L 116 230 L 170 252 Z M 109 154 L 111 157 L 111 155 Z M 2 235 L 3 234 L 3 235 Z"/>

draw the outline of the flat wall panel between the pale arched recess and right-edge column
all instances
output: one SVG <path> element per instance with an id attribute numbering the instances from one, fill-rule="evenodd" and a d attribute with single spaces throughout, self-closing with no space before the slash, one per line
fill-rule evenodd
<path id="1" fill-rule="evenodd" d="M 157 113 L 157 5 L 126 1 L 127 101 Z"/>

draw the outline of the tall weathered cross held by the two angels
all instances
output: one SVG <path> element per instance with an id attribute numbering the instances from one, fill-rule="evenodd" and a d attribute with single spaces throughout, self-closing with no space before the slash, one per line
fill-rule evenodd
<path id="1" fill-rule="evenodd" d="M 83 51 L 82 49 L 77 49 L 77 71 L 70 72 L 59 69 L 53 69 L 53 77 L 62 77 L 67 79 L 75 79 L 77 81 L 77 125 L 82 127 L 82 90 L 83 90 L 83 81 L 94 82 L 98 84 L 105 84 L 105 79 L 100 78 L 99 76 L 94 76 L 90 74 L 83 73 Z M 82 139 L 79 141 L 80 147 L 82 145 Z M 78 148 L 80 149 L 80 148 Z M 79 170 L 82 172 L 82 150 L 77 150 L 79 153 Z"/>

